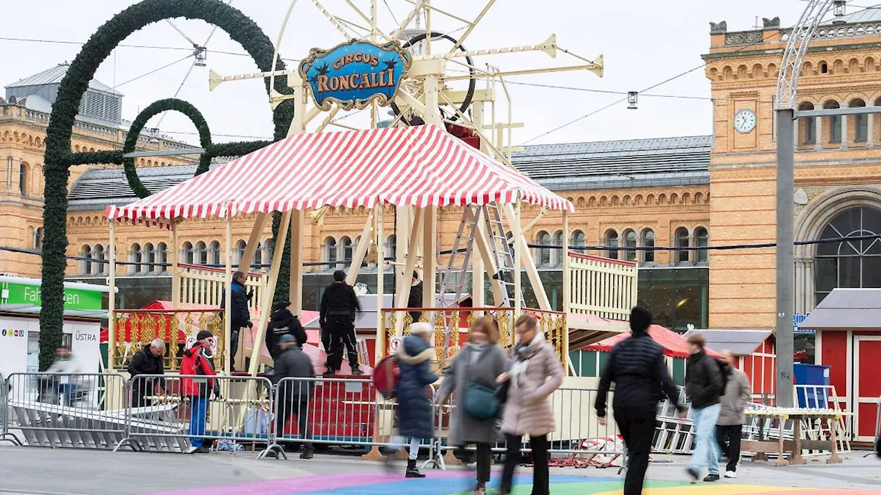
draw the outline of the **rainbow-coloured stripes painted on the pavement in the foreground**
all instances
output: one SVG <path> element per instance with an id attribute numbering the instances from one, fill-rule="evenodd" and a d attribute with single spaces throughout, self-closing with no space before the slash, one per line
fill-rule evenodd
<path id="1" fill-rule="evenodd" d="M 529 495 L 531 476 L 515 478 L 513 495 Z M 350 474 L 314 477 L 294 477 L 255 483 L 229 484 L 189 488 L 181 491 L 163 491 L 153 495 L 466 495 L 474 484 L 474 473 L 464 471 L 430 472 L 424 479 L 404 479 L 392 474 Z M 620 495 L 622 481 L 612 477 L 552 475 L 551 492 L 554 495 Z M 493 486 L 498 486 L 498 475 L 493 475 Z M 811 489 L 781 486 L 736 484 L 723 481 L 715 484 L 687 484 L 685 482 L 648 482 L 644 495 L 776 495 L 797 491 L 798 495 L 879 495 L 881 489 L 843 490 Z"/>

